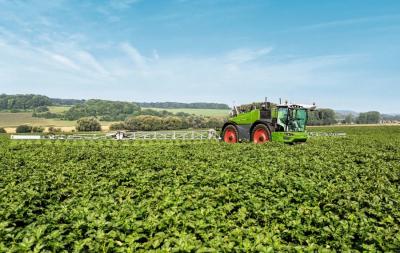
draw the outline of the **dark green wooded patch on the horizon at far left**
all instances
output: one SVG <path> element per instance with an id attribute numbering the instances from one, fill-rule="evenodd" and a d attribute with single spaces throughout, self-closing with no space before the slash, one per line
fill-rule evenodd
<path id="1" fill-rule="evenodd" d="M 40 106 L 49 106 L 51 101 L 48 97 L 42 95 L 0 95 L 0 110 L 28 110 Z"/>

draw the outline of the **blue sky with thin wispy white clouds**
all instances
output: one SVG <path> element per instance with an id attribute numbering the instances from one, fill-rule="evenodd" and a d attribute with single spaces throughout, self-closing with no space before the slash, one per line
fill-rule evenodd
<path id="1" fill-rule="evenodd" d="M 400 113 L 400 1 L 0 0 L 0 93 Z"/>

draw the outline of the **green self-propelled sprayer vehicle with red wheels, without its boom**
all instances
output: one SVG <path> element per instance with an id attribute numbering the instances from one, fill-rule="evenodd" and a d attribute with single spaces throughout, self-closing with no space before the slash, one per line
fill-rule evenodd
<path id="1" fill-rule="evenodd" d="M 270 102 L 235 106 L 222 127 L 221 138 L 227 143 L 305 142 L 308 111 L 314 109 L 315 105 Z"/>

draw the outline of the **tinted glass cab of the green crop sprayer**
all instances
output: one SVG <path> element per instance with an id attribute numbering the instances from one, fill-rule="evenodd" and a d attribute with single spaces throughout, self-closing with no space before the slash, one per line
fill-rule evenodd
<path id="1" fill-rule="evenodd" d="M 279 108 L 278 125 L 284 131 L 304 132 L 307 123 L 307 110 L 303 108 Z"/>

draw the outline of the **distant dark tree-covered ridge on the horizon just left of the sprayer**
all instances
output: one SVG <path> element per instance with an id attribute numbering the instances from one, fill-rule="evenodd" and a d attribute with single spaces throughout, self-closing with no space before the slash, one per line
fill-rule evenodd
<path id="1" fill-rule="evenodd" d="M 143 108 L 165 108 L 165 109 L 175 109 L 175 108 L 190 108 L 190 109 L 227 109 L 230 107 L 227 104 L 220 103 L 179 103 L 179 102 L 141 102 L 138 103 L 140 107 Z"/>

